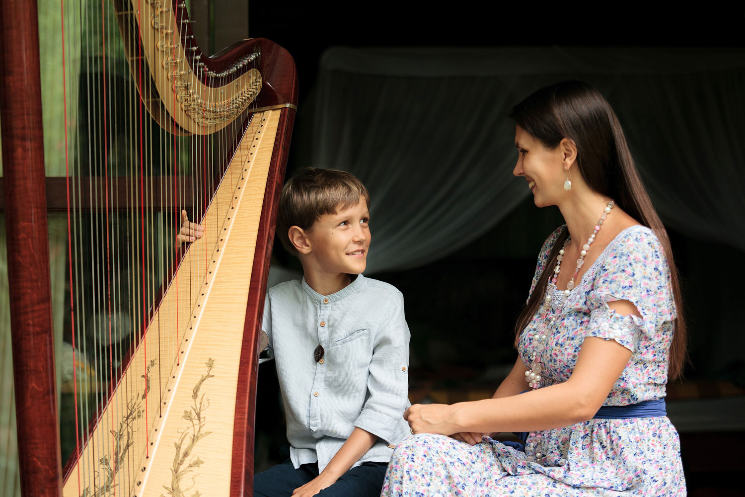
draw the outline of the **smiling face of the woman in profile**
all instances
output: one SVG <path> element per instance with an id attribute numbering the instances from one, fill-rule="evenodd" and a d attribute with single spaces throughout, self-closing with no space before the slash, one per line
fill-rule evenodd
<path id="1" fill-rule="evenodd" d="M 566 196 L 562 148 L 545 148 L 519 126 L 515 127 L 515 146 L 518 159 L 513 174 L 525 178 L 536 206 L 557 205 L 557 201 Z"/>

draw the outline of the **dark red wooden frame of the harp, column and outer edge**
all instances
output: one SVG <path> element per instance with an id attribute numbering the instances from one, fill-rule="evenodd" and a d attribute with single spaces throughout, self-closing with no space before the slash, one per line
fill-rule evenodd
<path id="1" fill-rule="evenodd" d="M 116 0 L 115 0 L 116 1 Z M 172 1 L 177 9 L 177 1 Z M 0 9 L 2 88 L 0 117 L 4 168 L 8 279 L 11 299 L 13 372 L 18 446 L 24 496 L 62 495 L 62 472 L 54 379 L 47 206 L 39 77 L 38 17 L 35 1 L 6 0 Z M 188 28 L 181 33 L 187 37 Z M 261 53 L 263 81 L 255 109 L 276 109 L 279 126 L 261 206 L 250 291 L 244 317 L 232 433 L 230 496 L 251 495 L 253 422 L 258 374 L 259 331 L 264 306 L 274 222 L 297 104 L 292 58 L 264 39 L 239 42 L 214 58 L 196 57 L 220 73 L 241 57 Z M 153 117 L 158 120 L 156 111 Z M 166 120 L 168 115 L 165 116 Z M 184 126 L 183 131 L 188 132 Z M 179 260 L 174 262 L 174 270 Z M 153 307 L 156 303 L 153 303 Z M 143 332 L 144 335 L 144 332 Z M 124 366 L 123 366 L 124 367 Z"/>

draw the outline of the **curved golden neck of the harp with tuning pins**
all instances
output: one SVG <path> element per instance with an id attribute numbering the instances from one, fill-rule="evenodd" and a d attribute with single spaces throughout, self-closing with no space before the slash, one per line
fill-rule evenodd
<path id="1" fill-rule="evenodd" d="M 243 114 L 262 89 L 270 95 L 254 107 L 294 106 L 297 89 L 288 75 L 272 71 L 278 55 L 286 58 L 266 40 L 237 42 L 208 57 L 194 39 L 184 4 L 130 1 L 114 0 L 124 51 L 143 103 L 165 130 L 215 133 Z M 276 82 L 285 88 L 271 84 Z"/>

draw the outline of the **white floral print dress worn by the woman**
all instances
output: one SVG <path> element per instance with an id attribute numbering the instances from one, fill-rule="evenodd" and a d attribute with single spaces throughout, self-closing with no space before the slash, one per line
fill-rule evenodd
<path id="1" fill-rule="evenodd" d="M 533 285 L 559 233 L 548 237 Z M 545 289 L 538 289 L 546 291 Z M 662 245 L 647 227 L 624 229 L 572 289 L 551 302 L 559 318 L 545 332 L 542 384 L 565 382 L 586 337 L 615 340 L 632 352 L 603 405 L 629 405 L 665 396 L 675 304 Z M 629 300 L 637 326 L 609 324 L 606 305 Z M 541 310 L 519 341 L 530 364 Z M 544 328 L 542 328 L 544 329 Z M 527 386 L 526 386 L 527 390 Z M 469 446 L 451 437 L 418 434 L 404 440 L 388 465 L 382 496 L 685 496 L 677 431 L 667 417 L 593 419 L 530 432 L 525 452 L 489 437 Z M 536 446 L 542 458 L 536 460 Z"/>

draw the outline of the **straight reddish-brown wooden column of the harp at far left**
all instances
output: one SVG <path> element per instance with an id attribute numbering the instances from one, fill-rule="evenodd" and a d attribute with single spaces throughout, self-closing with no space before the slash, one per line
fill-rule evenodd
<path id="1" fill-rule="evenodd" d="M 21 490 L 59 496 L 39 20 L 32 0 L 0 9 L 0 117 Z"/>

